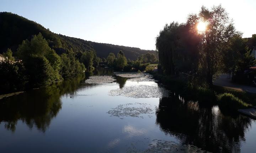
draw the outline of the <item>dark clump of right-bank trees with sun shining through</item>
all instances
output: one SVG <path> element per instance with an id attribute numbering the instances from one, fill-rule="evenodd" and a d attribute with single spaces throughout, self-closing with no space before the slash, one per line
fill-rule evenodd
<path id="1" fill-rule="evenodd" d="M 203 32 L 197 29 L 200 22 L 206 24 Z M 201 86 L 212 86 L 220 73 L 243 73 L 254 66 L 255 58 L 250 56 L 253 45 L 256 36 L 242 38 L 221 5 L 202 7 L 198 14 L 189 15 L 186 23 L 166 24 L 156 38 L 163 72 L 188 73 Z"/>

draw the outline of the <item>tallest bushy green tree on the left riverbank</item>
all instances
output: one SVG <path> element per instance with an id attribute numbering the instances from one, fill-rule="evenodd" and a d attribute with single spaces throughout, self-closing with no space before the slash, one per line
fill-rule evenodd
<path id="1" fill-rule="evenodd" d="M 18 56 L 24 63 L 31 86 L 50 85 L 62 79 L 59 74 L 60 57 L 41 33 L 34 35 L 31 41 L 24 40 L 18 47 Z"/>

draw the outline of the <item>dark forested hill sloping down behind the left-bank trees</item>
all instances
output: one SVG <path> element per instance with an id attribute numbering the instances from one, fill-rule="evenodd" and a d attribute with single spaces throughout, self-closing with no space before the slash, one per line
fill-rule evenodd
<path id="1" fill-rule="evenodd" d="M 78 54 L 86 50 L 95 50 L 99 57 L 105 58 L 110 52 L 117 54 L 119 50 L 122 50 L 130 60 L 136 60 L 139 55 L 148 52 L 156 54 L 154 50 L 141 50 L 135 47 L 97 43 L 55 34 L 36 22 L 9 12 L 0 12 L 0 53 L 10 48 L 15 55 L 18 45 L 23 40 L 30 40 L 33 35 L 39 32 L 42 33 L 49 46 L 58 54 L 65 53 L 66 49 L 70 48 Z"/>

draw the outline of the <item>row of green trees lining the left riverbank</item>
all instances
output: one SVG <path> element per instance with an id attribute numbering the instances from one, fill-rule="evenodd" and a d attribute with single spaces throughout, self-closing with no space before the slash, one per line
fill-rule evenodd
<path id="1" fill-rule="evenodd" d="M 75 58 L 72 48 L 58 55 L 41 33 L 18 46 L 16 60 L 10 49 L 4 55 L 5 60 L 0 62 L 2 93 L 51 85 L 86 70 L 84 63 Z"/>

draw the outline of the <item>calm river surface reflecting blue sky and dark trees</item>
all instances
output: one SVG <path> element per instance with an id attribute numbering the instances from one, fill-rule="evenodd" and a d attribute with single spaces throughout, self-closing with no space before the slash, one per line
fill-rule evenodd
<path id="1" fill-rule="evenodd" d="M 155 98 L 150 94 L 161 85 L 154 80 L 116 77 L 112 83 L 86 84 L 85 79 L 1 99 L 0 152 L 124 153 L 170 147 L 173 152 L 255 153 L 253 119 L 185 101 L 175 92 Z M 149 98 L 111 96 L 135 86 Z"/>

